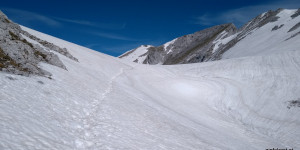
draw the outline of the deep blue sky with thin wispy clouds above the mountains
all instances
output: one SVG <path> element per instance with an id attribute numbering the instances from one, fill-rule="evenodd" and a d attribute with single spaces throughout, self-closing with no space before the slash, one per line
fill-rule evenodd
<path id="1" fill-rule="evenodd" d="M 300 8 L 299 0 L 26 0 L 3 1 L 13 21 L 55 37 L 118 56 L 142 44 L 161 45 L 213 25 L 240 27 L 277 8 Z"/>

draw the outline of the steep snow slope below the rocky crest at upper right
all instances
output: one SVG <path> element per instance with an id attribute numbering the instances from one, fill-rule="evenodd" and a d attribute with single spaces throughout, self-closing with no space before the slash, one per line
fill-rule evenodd
<path id="1" fill-rule="evenodd" d="M 300 16 L 291 16 L 297 10 L 282 10 L 277 14 L 277 21 L 270 22 L 251 31 L 245 38 L 230 48 L 222 56 L 223 59 L 245 56 L 268 55 L 282 51 L 298 50 L 300 47 Z M 291 31 L 291 29 L 294 30 Z"/>

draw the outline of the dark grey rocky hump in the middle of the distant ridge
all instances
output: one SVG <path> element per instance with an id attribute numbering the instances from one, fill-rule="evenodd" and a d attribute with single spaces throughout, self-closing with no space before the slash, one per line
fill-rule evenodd
<path id="1" fill-rule="evenodd" d="M 144 63 L 171 65 L 207 61 L 213 54 L 213 42 L 236 30 L 233 24 L 223 24 L 179 37 L 167 47 L 150 47 Z"/>

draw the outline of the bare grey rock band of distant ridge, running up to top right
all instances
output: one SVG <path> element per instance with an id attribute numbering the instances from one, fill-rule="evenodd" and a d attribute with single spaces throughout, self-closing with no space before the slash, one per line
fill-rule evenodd
<path id="1" fill-rule="evenodd" d="M 167 46 L 150 47 L 148 52 L 144 54 L 147 57 L 143 63 L 172 65 L 219 60 L 228 49 L 251 34 L 253 30 L 277 21 L 279 18 L 277 14 L 282 10 L 270 10 L 261 14 L 240 29 L 231 23 L 223 24 L 179 37 Z M 273 29 L 277 30 L 282 26 L 275 26 Z M 224 39 L 226 42 L 220 42 Z M 126 53 L 126 55 L 130 55 L 133 51 Z"/>

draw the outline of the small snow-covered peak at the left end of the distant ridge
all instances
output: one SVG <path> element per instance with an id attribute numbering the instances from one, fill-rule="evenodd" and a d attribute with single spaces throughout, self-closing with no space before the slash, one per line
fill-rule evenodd
<path id="1" fill-rule="evenodd" d="M 129 62 L 143 63 L 147 57 L 148 48 L 153 47 L 151 45 L 141 45 L 140 47 L 130 50 L 123 55 L 119 56 Z"/>

